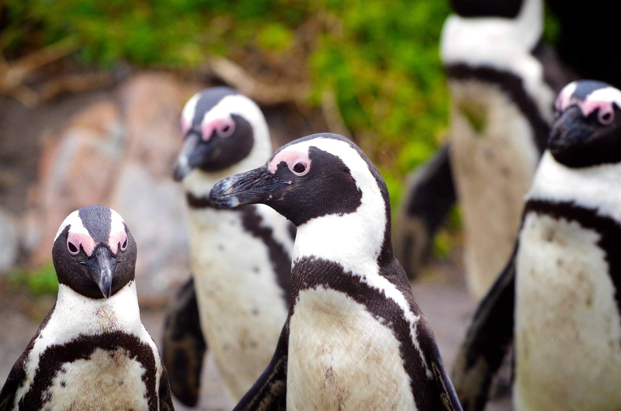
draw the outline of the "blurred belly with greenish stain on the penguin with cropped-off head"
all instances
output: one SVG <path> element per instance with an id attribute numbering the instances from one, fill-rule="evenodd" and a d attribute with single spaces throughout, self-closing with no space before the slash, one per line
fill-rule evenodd
<path id="1" fill-rule="evenodd" d="M 449 85 L 451 167 L 465 228 L 466 283 L 481 298 L 513 250 L 539 153 L 528 120 L 497 86 L 476 80 Z"/>

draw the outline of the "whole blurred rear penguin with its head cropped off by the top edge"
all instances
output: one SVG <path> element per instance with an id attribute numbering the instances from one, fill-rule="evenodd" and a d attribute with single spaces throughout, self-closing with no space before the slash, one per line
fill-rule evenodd
<path id="1" fill-rule="evenodd" d="M 466 285 L 480 299 L 509 258 L 569 73 L 542 41 L 542 0 L 453 0 L 440 54 L 451 94 L 449 143 L 410 179 L 397 257 L 413 276 L 455 199 Z"/>

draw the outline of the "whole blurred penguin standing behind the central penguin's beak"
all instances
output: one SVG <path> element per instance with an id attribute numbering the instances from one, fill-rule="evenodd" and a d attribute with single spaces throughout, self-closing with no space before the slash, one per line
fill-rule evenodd
<path id="1" fill-rule="evenodd" d="M 227 87 L 205 89 L 186 103 L 181 129 L 173 176 L 188 202 L 193 279 L 169 311 L 163 359 L 171 391 L 194 406 L 209 346 L 235 404 L 270 362 L 287 318 L 295 228 L 268 206 L 209 204 L 217 181 L 265 164 L 273 152 L 252 100 Z"/>

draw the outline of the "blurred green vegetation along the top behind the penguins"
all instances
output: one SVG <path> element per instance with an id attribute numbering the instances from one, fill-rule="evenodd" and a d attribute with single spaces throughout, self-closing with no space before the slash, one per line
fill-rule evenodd
<path id="1" fill-rule="evenodd" d="M 448 0 L 7 0 L 0 48 L 10 60 L 71 37 L 103 68 L 192 69 L 222 55 L 274 83 L 309 83 L 309 106 L 330 89 L 396 202 L 446 128 L 449 12 Z"/>

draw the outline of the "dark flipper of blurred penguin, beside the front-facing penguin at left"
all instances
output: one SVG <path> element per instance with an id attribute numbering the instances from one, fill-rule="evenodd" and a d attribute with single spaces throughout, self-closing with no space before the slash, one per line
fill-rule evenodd
<path id="1" fill-rule="evenodd" d="M 161 357 L 170 371 L 170 391 L 182 404 L 194 407 L 199 399 L 207 344 L 202 336 L 193 278 L 168 306 L 163 340 Z"/>

